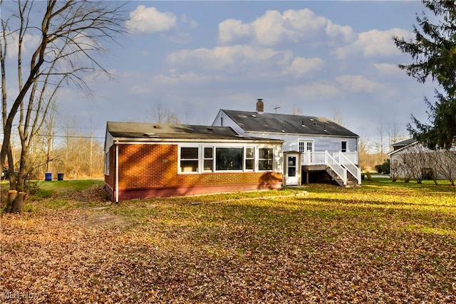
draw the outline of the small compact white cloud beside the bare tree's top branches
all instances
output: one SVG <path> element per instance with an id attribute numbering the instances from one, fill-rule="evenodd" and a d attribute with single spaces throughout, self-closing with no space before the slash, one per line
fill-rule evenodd
<path id="1" fill-rule="evenodd" d="M 154 34 L 174 29 L 176 20 L 175 14 L 171 12 L 162 13 L 155 7 L 140 5 L 130 13 L 125 26 L 131 34 Z"/>

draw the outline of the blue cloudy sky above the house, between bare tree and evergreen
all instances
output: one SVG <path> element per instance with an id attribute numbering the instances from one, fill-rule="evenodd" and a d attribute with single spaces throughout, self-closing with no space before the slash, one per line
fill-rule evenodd
<path id="1" fill-rule="evenodd" d="M 393 36 L 413 37 L 420 1 L 128 1 L 129 33 L 99 59 L 90 97 L 59 94 L 58 113 L 103 141 L 107 121 L 210 125 L 219 109 L 337 118 L 361 138 L 426 121 L 418 83 Z"/>

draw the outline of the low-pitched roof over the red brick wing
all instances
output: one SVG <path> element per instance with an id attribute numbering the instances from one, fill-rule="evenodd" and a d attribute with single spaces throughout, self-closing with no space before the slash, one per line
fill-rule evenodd
<path id="1" fill-rule="evenodd" d="M 213 139 L 213 140 L 247 140 L 277 141 L 279 140 L 239 136 L 232 128 L 226 126 L 192 126 L 167 123 L 106 123 L 106 132 L 114 138 L 141 138 L 144 141 L 160 139 Z"/>

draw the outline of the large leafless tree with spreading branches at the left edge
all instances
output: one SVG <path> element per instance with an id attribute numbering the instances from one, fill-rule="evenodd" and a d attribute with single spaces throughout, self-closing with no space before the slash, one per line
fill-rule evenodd
<path id="1" fill-rule="evenodd" d="M 4 1 L 0 1 L 0 5 L 3 4 Z M 44 118 L 56 93 L 68 83 L 76 84 L 86 93 L 90 92 L 83 75 L 94 71 L 107 73 L 95 55 L 106 51 L 102 41 L 115 41 L 115 34 L 123 31 L 125 19 L 121 11 L 123 4 L 118 5 L 112 1 L 19 0 L 16 5 L 17 8 L 11 14 L 6 14 L 1 7 L 3 35 L 0 37 L 0 61 L 4 139 L 0 162 L 4 163 L 6 156 L 11 156 L 11 128 L 16 121 L 21 138 L 21 156 L 19 176 L 16 182 L 10 179 L 10 188 L 22 191 L 33 138 L 43 127 Z M 3 16 L 8 18 L 4 19 Z M 38 43 L 26 44 L 26 36 L 35 37 Z M 17 47 L 14 50 L 18 75 L 15 91 L 19 93 L 12 96 L 13 102 L 8 105 L 5 55 L 10 46 Z M 32 51 L 28 52 L 28 49 Z M 11 161 L 9 157 L 10 166 Z"/>

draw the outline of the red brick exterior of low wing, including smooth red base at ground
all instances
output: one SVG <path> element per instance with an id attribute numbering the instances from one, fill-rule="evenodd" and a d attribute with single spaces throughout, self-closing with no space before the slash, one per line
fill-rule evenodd
<path id="1" fill-rule="evenodd" d="M 282 186 L 282 174 L 270 171 L 177 174 L 175 144 L 122 144 L 118 154 L 120 201 Z M 115 146 L 110 148 L 110 173 L 105 184 L 115 201 Z"/>

